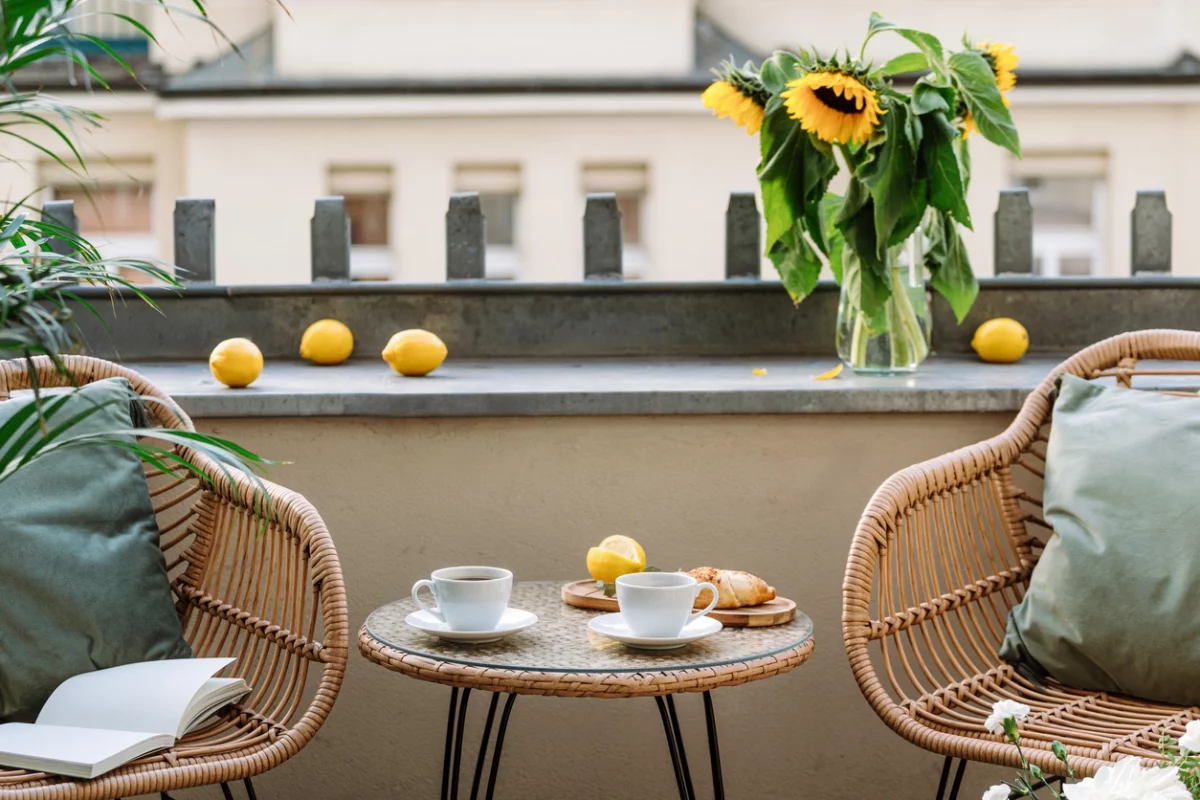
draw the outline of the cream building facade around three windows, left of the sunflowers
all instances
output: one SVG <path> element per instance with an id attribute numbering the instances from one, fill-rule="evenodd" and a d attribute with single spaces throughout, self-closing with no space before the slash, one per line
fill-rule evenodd
<path id="1" fill-rule="evenodd" d="M 702 109 L 701 109 L 702 110 Z M 238 154 L 232 157 L 232 154 Z M 731 190 L 755 188 L 756 143 L 689 112 L 187 122 L 187 192 L 217 200 L 217 278 L 307 282 L 313 199 L 332 164 L 391 164 L 391 240 L 402 281 L 445 278 L 445 210 L 457 163 L 518 163 L 521 275 L 583 273 L 582 167 L 649 164 L 643 237 L 654 279 L 724 276 Z"/>

